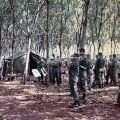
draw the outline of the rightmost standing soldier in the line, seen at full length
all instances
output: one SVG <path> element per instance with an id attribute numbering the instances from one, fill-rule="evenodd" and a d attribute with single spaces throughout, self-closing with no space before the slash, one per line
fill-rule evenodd
<path id="1" fill-rule="evenodd" d="M 110 63 L 110 78 L 111 78 L 111 84 L 113 83 L 116 85 L 117 80 L 116 80 L 116 72 L 118 68 L 118 61 L 116 59 L 116 54 L 113 54 L 113 58 Z"/>

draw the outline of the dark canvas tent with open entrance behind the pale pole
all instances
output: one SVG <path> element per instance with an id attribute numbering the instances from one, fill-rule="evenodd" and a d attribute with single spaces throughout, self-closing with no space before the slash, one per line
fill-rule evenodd
<path id="1" fill-rule="evenodd" d="M 27 53 L 20 52 L 15 54 L 13 57 L 13 72 L 15 74 L 20 73 L 24 74 L 26 66 Z M 33 52 L 30 52 L 29 55 L 29 65 L 28 65 L 28 74 L 32 74 L 32 69 L 36 69 L 38 61 L 41 60 L 41 57 Z M 12 70 L 12 57 L 4 59 L 3 64 L 3 74 L 9 74 Z"/>

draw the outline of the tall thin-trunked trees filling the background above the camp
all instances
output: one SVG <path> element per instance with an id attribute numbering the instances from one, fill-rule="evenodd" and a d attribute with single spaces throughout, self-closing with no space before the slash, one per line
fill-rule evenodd
<path id="1" fill-rule="evenodd" d="M 0 56 L 32 49 L 62 57 L 85 45 L 96 53 L 105 43 L 114 53 L 119 18 L 119 0 L 1 0 Z"/>

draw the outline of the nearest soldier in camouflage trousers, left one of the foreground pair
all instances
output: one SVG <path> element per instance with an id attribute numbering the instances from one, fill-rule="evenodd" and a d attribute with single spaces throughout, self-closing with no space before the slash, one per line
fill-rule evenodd
<path id="1" fill-rule="evenodd" d="M 79 62 L 76 56 L 73 55 L 71 58 L 71 63 L 69 67 L 69 83 L 70 83 L 70 91 L 71 95 L 73 97 L 74 102 L 69 107 L 78 107 L 80 105 L 79 103 L 79 97 L 78 97 L 78 67 Z"/>

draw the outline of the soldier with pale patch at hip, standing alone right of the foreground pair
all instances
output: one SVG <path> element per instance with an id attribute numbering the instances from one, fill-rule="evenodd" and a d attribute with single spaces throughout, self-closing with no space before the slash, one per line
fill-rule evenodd
<path id="1" fill-rule="evenodd" d="M 103 58 L 103 54 L 99 52 L 98 59 L 95 63 L 95 74 L 96 74 L 95 85 L 98 84 L 99 88 L 103 87 L 104 67 L 105 67 L 105 60 Z"/>

